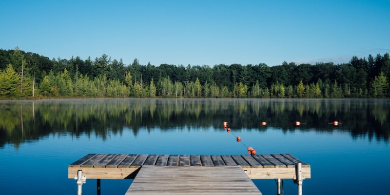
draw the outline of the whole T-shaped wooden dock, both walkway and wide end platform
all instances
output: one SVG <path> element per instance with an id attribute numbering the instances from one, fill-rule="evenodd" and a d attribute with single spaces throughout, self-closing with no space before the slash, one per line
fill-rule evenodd
<path id="1" fill-rule="evenodd" d="M 250 179 L 297 180 L 298 175 L 301 181 L 311 178 L 311 167 L 290 154 L 88 154 L 68 167 L 68 178 L 81 179 L 82 176 L 84 182 L 85 179 L 98 179 L 98 185 L 100 179 L 135 178 L 126 195 L 185 194 L 184 192 L 227 194 L 227 189 L 234 194 L 259 195 L 260 191 L 254 190 L 257 188 Z M 226 184 L 230 185 L 222 184 L 217 178 L 226 179 Z M 204 182 L 199 183 L 202 181 Z M 234 182 L 241 184 L 234 185 Z M 81 180 L 78 180 L 78 185 L 82 185 Z M 240 191 L 242 186 L 245 186 L 245 193 Z"/>

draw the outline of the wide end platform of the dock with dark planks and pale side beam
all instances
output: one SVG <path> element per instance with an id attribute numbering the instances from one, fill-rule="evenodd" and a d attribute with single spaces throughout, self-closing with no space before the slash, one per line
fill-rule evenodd
<path id="1" fill-rule="evenodd" d="M 290 154 L 273 155 L 135 155 L 88 154 L 68 167 L 68 178 L 78 170 L 89 179 L 124 179 L 141 167 L 226 167 L 237 166 L 247 171 L 251 179 L 293 179 L 295 164 L 302 163 L 303 178 L 311 177 L 311 167 Z"/>

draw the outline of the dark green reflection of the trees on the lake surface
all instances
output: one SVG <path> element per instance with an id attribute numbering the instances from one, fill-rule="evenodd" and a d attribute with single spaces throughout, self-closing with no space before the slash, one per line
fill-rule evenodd
<path id="1" fill-rule="evenodd" d="M 101 137 L 152 128 L 231 128 L 267 131 L 347 131 L 352 138 L 389 141 L 388 99 L 49 99 L 1 100 L 0 147 L 50 134 Z M 267 121 L 267 126 L 261 122 Z M 295 127 L 294 121 L 303 123 Z M 339 121 L 337 127 L 329 124 Z"/>

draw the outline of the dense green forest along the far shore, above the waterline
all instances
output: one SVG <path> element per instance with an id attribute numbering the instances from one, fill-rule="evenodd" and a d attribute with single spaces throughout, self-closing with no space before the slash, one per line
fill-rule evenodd
<path id="1" fill-rule="evenodd" d="M 0 98 L 390 98 L 389 53 L 349 63 L 124 64 L 0 49 Z"/>

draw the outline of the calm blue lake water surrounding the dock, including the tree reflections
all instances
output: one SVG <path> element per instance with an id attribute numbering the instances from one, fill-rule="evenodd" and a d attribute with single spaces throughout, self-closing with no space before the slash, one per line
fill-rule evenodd
<path id="1" fill-rule="evenodd" d="M 388 99 L 59 99 L 0 100 L 0 194 L 77 194 L 67 166 L 89 153 L 246 155 L 223 121 L 257 154 L 311 164 L 306 195 L 388 192 Z M 102 194 L 123 195 L 131 182 L 102 179 Z M 274 180 L 254 183 L 276 194 Z M 87 179 L 83 194 L 95 188 Z"/>

